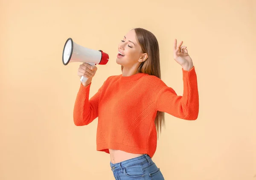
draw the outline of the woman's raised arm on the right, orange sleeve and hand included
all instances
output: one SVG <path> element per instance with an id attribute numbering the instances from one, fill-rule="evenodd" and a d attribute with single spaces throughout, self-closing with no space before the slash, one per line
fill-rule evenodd
<path id="1" fill-rule="evenodd" d="M 157 111 L 167 112 L 185 120 L 196 120 L 199 112 L 197 76 L 187 47 L 182 44 L 183 41 L 177 46 L 177 39 L 175 39 L 173 51 L 174 60 L 182 66 L 183 96 L 177 96 L 172 88 L 160 82 L 156 106 Z"/>

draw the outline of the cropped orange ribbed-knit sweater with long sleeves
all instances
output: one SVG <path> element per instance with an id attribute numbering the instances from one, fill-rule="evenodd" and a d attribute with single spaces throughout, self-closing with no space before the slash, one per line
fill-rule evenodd
<path id="1" fill-rule="evenodd" d="M 152 75 L 139 73 L 108 77 L 89 99 L 91 83 L 80 86 L 73 111 L 76 126 L 98 117 L 97 151 L 119 149 L 153 157 L 157 147 L 154 120 L 163 111 L 184 120 L 196 120 L 199 100 L 195 67 L 183 72 L 183 96 Z"/>

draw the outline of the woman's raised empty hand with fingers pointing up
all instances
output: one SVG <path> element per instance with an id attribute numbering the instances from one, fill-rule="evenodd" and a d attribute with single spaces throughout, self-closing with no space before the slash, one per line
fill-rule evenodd
<path id="1" fill-rule="evenodd" d="M 174 41 L 174 60 L 179 63 L 184 70 L 189 71 L 194 65 L 186 49 L 187 47 L 181 46 L 182 43 L 183 41 L 177 46 L 177 39 Z"/>

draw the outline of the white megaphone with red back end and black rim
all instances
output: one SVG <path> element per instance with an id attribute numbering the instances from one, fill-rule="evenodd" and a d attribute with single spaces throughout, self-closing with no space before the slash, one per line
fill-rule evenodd
<path id="1" fill-rule="evenodd" d="M 105 65 L 108 63 L 109 56 L 102 50 L 93 50 L 85 48 L 73 42 L 72 38 L 68 38 L 62 53 L 62 63 L 66 66 L 70 62 L 88 63 L 90 66 L 96 64 Z M 81 81 L 85 82 L 88 78 L 81 77 Z"/>

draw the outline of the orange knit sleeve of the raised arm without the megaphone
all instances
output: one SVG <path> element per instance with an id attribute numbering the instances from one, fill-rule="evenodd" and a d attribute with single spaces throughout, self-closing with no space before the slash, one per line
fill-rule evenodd
<path id="1" fill-rule="evenodd" d="M 157 111 L 166 112 L 184 120 L 196 120 L 199 111 L 199 96 L 195 67 L 183 72 L 183 96 L 162 83 L 157 94 Z"/>

